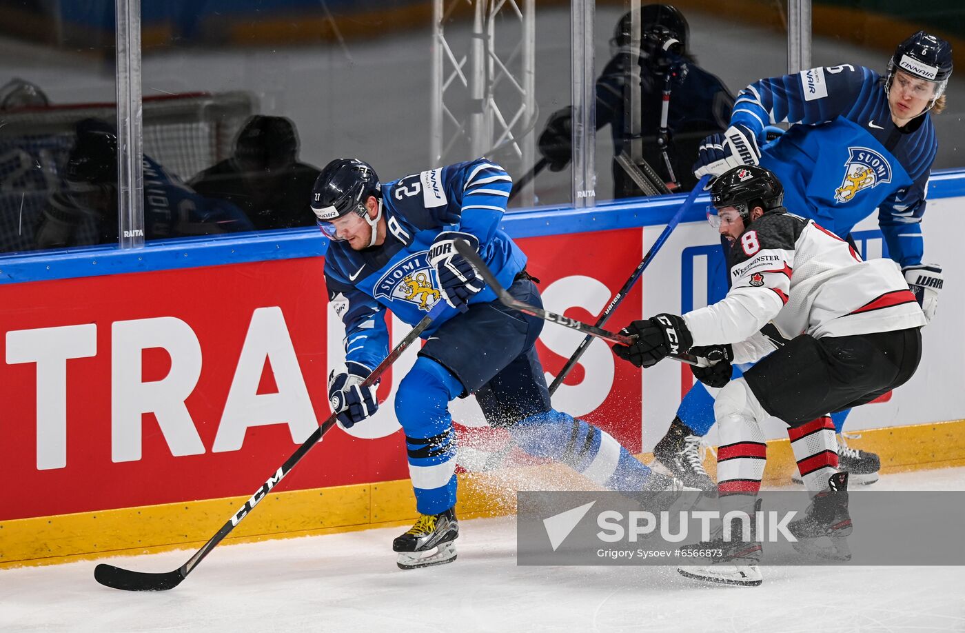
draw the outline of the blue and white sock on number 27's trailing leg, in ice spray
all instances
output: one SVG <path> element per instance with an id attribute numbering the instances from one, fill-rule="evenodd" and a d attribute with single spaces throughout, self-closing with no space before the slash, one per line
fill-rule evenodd
<path id="1" fill-rule="evenodd" d="M 610 490 L 639 491 L 650 475 L 650 469 L 612 435 L 560 411 L 530 416 L 510 432 L 527 453 L 565 463 Z"/>

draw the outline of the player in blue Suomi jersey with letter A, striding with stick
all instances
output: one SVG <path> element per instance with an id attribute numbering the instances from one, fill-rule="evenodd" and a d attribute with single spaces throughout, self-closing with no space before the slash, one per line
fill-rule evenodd
<path id="1" fill-rule="evenodd" d="M 395 412 L 405 433 L 420 517 L 396 538 L 403 569 L 455 560 L 455 431 L 448 403 L 475 394 L 490 425 L 507 427 L 524 451 L 563 462 L 620 491 L 681 488 L 651 473 L 612 436 L 553 410 L 536 352 L 542 320 L 505 308 L 455 252 L 470 242 L 500 283 L 541 305 L 526 256 L 499 228 L 512 180 L 480 158 L 382 184 L 372 166 L 338 159 L 318 176 L 312 209 L 331 242 L 325 255 L 329 301 L 345 323 L 345 366 L 329 376 L 329 399 L 351 427 L 378 408 L 360 383 L 388 353 L 385 313 L 415 324 L 439 301 L 449 308 L 403 377 Z M 434 551 L 433 551 L 434 550 Z"/>

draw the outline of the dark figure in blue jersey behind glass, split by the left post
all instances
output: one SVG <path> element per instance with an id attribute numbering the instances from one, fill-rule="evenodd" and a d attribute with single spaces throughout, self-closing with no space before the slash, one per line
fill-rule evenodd
<path id="1" fill-rule="evenodd" d="M 36 230 L 39 249 L 118 241 L 117 132 L 85 119 L 75 127 L 66 185 L 53 193 Z M 149 156 L 143 156 L 146 239 L 252 231 L 229 202 L 198 195 Z"/>

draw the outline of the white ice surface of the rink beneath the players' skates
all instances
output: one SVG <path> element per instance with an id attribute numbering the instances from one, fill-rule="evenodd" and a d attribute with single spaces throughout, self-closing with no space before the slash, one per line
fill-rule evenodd
<path id="1" fill-rule="evenodd" d="M 965 468 L 876 488 L 965 489 Z M 674 567 L 515 562 L 515 519 L 464 521 L 453 564 L 396 567 L 400 528 L 219 546 L 170 592 L 98 585 L 95 563 L 0 570 L 0 631 L 962 631 L 961 567 L 769 567 L 758 588 Z M 177 568 L 190 551 L 112 559 Z"/>

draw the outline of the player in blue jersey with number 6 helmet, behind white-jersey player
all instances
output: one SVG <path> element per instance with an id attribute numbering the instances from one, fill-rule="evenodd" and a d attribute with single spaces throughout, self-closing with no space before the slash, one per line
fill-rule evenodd
<path id="1" fill-rule="evenodd" d="M 761 79 L 737 96 L 731 126 L 704 141 L 695 175 L 719 176 L 759 163 L 784 183 L 788 208 L 842 238 L 877 209 L 888 254 L 930 319 L 943 280 L 940 265 L 923 263 L 921 222 L 937 150 L 929 113 L 944 107 L 951 66 L 949 42 L 920 31 L 898 45 L 885 77 L 845 64 Z M 784 122 L 793 125 L 764 145 L 765 125 Z M 727 293 L 724 280 L 724 274 L 711 274 L 717 288 L 709 303 Z M 798 333 L 780 334 L 793 338 Z M 731 378 L 725 367 L 704 382 L 725 384 Z M 712 409 L 712 397 L 695 384 L 654 448 L 656 459 L 676 477 L 704 489 L 713 482 L 703 470 L 699 447 L 713 425 Z M 847 411 L 833 416 L 837 432 Z M 843 442 L 839 453 L 851 482 L 877 481 L 877 455 Z"/>

